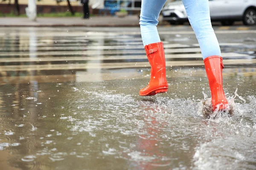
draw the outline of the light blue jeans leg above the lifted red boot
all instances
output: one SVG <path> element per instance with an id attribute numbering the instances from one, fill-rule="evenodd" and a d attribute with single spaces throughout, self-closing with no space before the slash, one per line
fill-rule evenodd
<path id="1" fill-rule="evenodd" d="M 158 17 L 166 0 L 142 0 L 140 12 L 140 31 L 143 45 L 160 42 L 157 32 Z"/>

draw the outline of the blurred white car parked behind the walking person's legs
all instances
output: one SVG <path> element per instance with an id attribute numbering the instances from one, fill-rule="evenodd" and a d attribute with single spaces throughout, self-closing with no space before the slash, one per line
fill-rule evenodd
<path id="1" fill-rule="evenodd" d="M 209 0 L 212 21 L 220 21 L 229 26 L 235 21 L 244 25 L 256 25 L 256 0 Z M 162 10 L 163 20 L 171 24 L 183 24 L 188 21 L 186 10 L 181 0 L 168 3 Z"/>

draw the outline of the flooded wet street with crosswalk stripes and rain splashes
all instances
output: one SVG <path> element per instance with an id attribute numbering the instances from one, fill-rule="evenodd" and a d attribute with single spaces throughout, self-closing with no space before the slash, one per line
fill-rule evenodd
<path id="1" fill-rule="evenodd" d="M 158 29 L 169 90 L 150 97 L 139 28 L 0 28 L 1 169 L 256 169 L 256 30 L 216 29 L 234 113 L 206 119 L 189 26 Z"/>

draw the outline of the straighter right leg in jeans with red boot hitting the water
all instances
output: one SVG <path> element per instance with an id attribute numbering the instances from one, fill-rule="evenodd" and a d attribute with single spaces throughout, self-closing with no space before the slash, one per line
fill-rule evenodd
<path id="1" fill-rule="evenodd" d="M 212 109 L 229 109 L 222 85 L 222 69 L 224 65 L 220 46 L 212 29 L 209 2 L 208 0 L 183 0 L 183 4 L 204 58 L 212 95 Z"/>

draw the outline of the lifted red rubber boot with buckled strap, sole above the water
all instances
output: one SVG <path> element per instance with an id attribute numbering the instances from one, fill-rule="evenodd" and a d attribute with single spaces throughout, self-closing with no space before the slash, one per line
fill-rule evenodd
<path id="1" fill-rule="evenodd" d="M 147 87 L 140 90 L 140 96 L 152 96 L 164 93 L 168 89 L 166 80 L 166 61 L 163 50 L 163 42 L 157 42 L 145 46 L 148 62 L 151 65 L 151 76 Z"/>

